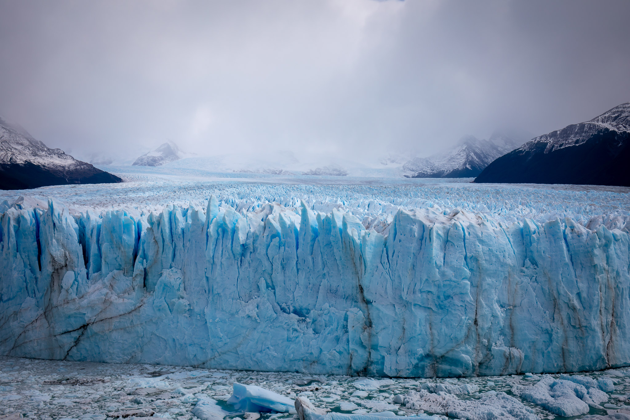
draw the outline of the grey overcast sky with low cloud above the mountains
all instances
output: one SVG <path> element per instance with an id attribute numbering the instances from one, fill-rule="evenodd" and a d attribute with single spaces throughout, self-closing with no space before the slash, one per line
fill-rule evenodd
<path id="1" fill-rule="evenodd" d="M 428 155 L 630 101 L 629 17 L 627 0 L 0 0 L 0 115 L 77 157 L 166 139 Z"/>

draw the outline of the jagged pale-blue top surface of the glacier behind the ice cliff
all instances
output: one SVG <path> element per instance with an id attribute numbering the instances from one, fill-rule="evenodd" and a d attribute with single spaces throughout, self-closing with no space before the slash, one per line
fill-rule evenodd
<path id="1" fill-rule="evenodd" d="M 587 225 L 627 220 L 630 188 L 610 186 L 541 184 L 472 184 L 472 179 L 382 179 L 324 176 L 272 176 L 185 171 L 165 167 L 104 167 L 125 183 L 49 186 L 36 190 L 1 191 L 0 201 L 13 202 L 19 196 L 39 200 L 45 207 L 52 197 L 72 212 L 92 210 L 160 211 L 166 205 L 195 205 L 205 208 L 211 194 L 219 200 L 238 204 L 238 211 L 276 201 L 295 207 L 299 200 L 343 208 L 357 217 L 396 212 L 399 208 L 438 206 L 481 212 L 501 222 L 524 217 L 545 222 L 570 217 Z M 249 176 L 249 178 L 244 178 Z M 230 178 L 234 177 L 234 181 Z M 371 208 L 370 208 L 371 204 Z M 323 211 L 323 210 L 321 210 Z M 593 223 L 592 222 L 592 223 Z M 607 226 L 610 227 L 610 226 Z"/>

